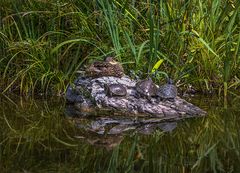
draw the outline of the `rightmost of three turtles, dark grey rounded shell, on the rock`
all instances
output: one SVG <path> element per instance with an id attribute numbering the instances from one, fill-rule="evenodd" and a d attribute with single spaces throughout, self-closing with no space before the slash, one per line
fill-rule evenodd
<path id="1" fill-rule="evenodd" d="M 168 78 L 167 83 L 158 88 L 157 96 L 159 100 L 174 101 L 175 97 L 177 97 L 177 87 L 172 79 Z"/>

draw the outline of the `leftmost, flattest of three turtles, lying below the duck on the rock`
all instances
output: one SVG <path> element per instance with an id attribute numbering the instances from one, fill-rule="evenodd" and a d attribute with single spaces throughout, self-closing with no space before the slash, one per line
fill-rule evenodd
<path id="1" fill-rule="evenodd" d="M 106 95 L 110 97 L 124 97 L 127 95 L 127 89 L 122 84 L 104 84 L 104 88 Z"/>

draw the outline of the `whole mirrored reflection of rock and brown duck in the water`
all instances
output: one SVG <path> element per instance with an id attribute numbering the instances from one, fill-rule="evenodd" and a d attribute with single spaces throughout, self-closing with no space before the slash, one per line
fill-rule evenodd
<path id="1" fill-rule="evenodd" d="M 84 111 L 74 110 L 68 106 L 65 113 L 75 126 L 83 131 L 81 136 L 75 137 L 107 150 L 118 146 L 125 135 L 151 135 L 156 131 L 172 132 L 177 127 L 177 121 L 166 122 L 151 117 L 112 116 L 104 111 L 88 111 L 89 114 L 86 114 Z"/>

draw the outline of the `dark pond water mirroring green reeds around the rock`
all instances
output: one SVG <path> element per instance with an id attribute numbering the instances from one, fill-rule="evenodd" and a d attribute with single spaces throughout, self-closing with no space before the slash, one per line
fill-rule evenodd
<path id="1" fill-rule="evenodd" d="M 188 99 L 207 117 L 175 129 L 86 131 L 60 98 L 0 97 L 0 172 L 240 172 L 240 99 Z"/>

